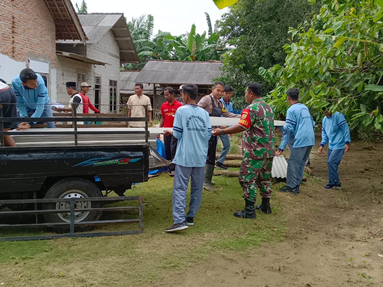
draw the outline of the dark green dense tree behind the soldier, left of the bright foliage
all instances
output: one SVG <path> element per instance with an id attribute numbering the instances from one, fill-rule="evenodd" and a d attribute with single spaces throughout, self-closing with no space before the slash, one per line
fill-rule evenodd
<path id="1" fill-rule="evenodd" d="M 231 50 L 224 59 L 221 78 L 234 86 L 233 102 L 244 105 L 244 86 L 259 82 L 264 94 L 272 86 L 258 74 L 259 67 L 283 65 L 283 45 L 288 42 L 289 27 L 298 26 L 319 11 L 321 4 L 315 0 L 241 0 L 230 7 L 217 22 L 219 34 L 228 41 Z"/>

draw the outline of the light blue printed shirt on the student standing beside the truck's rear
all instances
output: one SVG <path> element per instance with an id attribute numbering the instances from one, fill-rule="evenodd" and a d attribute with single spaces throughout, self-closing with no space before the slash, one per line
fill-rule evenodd
<path id="1" fill-rule="evenodd" d="M 178 139 L 173 163 L 186 167 L 205 166 L 211 137 L 210 117 L 205 109 L 185 104 L 175 112 L 173 136 Z"/>

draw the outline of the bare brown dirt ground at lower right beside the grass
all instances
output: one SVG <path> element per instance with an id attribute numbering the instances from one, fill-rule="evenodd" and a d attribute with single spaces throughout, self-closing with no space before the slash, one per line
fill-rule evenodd
<path id="1" fill-rule="evenodd" d="M 152 286 L 382 286 L 383 143 L 374 150 L 363 142 L 350 148 L 339 166 L 342 190 L 322 189 L 326 156 L 314 148 L 314 180 L 296 196 L 274 195 L 289 228 L 285 241 L 245 255 L 210 255 L 187 272 L 167 272 Z"/>

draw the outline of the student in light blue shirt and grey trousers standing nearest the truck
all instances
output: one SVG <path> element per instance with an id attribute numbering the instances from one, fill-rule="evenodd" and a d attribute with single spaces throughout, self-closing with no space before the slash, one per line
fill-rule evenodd
<path id="1" fill-rule="evenodd" d="M 185 106 L 175 112 L 173 132 L 164 130 L 164 135 L 173 135 L 178 139 L 172 161 L 175 164 L 172 197 L 174 224 L 165 229 L 166 232 L 177 232 L 194 225 L 194 217 L 201 204 L 211 124 L 208 112 L 195 103 L 197 92 L 196 85 L 183 85 L 181 96 Z M 190 178 L 190 204 L 185 218 L 186 189 Z"/>

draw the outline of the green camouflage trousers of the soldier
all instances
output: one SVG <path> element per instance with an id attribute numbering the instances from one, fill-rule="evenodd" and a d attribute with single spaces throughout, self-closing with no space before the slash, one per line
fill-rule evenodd
<path id="1" fill-rule="evenodd" d="M 271 197 L 271 169 L 273 158 L 254 160 L 243 158 L 238 181 L 243 189 L 243 197 L 255 202 L 257 186 L 262 197 Z"/>

